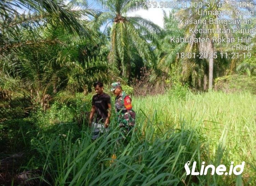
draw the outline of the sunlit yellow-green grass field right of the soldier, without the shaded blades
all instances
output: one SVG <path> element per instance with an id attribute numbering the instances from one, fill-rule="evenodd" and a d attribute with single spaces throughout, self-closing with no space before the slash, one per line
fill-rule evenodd
<path id="1" fill-rule="evenodd" d="M 201 147 L 204 151 L 201 159 L 215 165 L 245 161 L 242 181 L 256 185 L 255 95 L 209 92 L 190 93 L 186 99 L 177 99 L 167 94 L 138 98 L 133 104 L 136 110 L 143 109 L 149 115 L 158 111 L 159 120 L 163 122 L 162 130 L 179 128 L 181 120 L 190 127 L 199 123 L 200 135 L 207 138 Z M 207 183 L 229 185 L 236 179 L 236 176 L 208 176 Z"/>

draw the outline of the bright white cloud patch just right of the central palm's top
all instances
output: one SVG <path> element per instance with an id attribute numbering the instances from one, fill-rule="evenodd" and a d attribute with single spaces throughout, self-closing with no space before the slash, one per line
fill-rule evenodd
<path id="1" fill-rule="evenodd" d="M 163 28 L 163 10 L 166 11 L 167 14 L 169 14 L 169 11 L 171 11 L 171 9 L 165 8 L 150 8 L 148 10 L 139 10 L 136 12 L 128 13 L 127 16 L 141 16 Z"/>

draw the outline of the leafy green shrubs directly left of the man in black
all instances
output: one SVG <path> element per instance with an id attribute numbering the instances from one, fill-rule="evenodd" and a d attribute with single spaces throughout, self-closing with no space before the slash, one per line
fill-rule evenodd
<path id="1" fill-rule="evenodd" d="M 31 115 L 40 129 L 48 129 L 59 123 L 76 122 L 82 124 L 89 117 L 93 94 L 61 92 L 55 102 L 45 112 L 38 107 Z"/>

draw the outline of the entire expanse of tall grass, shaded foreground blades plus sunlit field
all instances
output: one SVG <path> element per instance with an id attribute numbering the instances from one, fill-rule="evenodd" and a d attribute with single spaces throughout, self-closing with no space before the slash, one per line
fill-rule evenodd
<path id="1" fill-rule="evenodd" d="M 41 183 L 49 185 L 255 185 L 255 96 L 210 92 L 133 99 L 137 131 L 130 143 L 115 149 L 116 118 L 111 132 L 91 141 L 84 126 L 73 131 L 39 134 L 34 152 Z M 112 163 L 112 155 L 117 158 Z M 235 175 L 186 176 L 184 165 L 227 167 L 245 161 L 244 172 Z M 27 167 L 31 167 L 29 164 Z M 199 169 L 199 166 L 197 167 Z"/>

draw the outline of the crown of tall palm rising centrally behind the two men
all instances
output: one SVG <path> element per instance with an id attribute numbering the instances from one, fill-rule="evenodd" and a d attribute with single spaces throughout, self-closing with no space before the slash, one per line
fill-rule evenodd
<path id="1" fill-rule="evenodd" d="M 99 26 L 112 24 L 110 37 L 111 49 L 108 56 L 112 68 L 122 77 L 129 78 L 131 73 L 132 48 L 144 61 L 152 59 L 149 41 L 157 42 L 156 33 L 160 28 L 153 22 L 127 13 L 142 9 L 142 0 L 97 0 L 105 9 L 96 17 Z M 138 3 L 135 3 L 138 2 Z"/>

